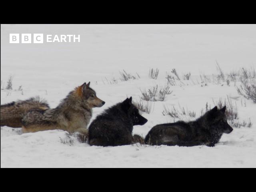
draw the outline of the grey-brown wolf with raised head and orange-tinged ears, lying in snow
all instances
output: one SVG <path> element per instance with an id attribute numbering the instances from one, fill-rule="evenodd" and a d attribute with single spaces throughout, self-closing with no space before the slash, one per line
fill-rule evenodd
<path id="1" fill-rule="evenodd" d="M 92 108 L 105 104 L 88 84 L 78 86 L 54 109 L 30 110 L 22 119 L 23 132 L 61 129 L 70 133 L 84 132 L 92 117 Z"/>

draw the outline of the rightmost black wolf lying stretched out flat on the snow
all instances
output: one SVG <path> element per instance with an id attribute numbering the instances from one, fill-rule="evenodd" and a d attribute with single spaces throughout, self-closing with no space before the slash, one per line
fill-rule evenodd
<path id="1" fill-rule="evenodd" d="M 214 146 L 223 133 L 232 132 L 225 115 L 226 106 L 214 107 L 196 121 L 175 122 L 154 126 L 146 135 L 145 142 L 152 145 L 169 146 Z"/>

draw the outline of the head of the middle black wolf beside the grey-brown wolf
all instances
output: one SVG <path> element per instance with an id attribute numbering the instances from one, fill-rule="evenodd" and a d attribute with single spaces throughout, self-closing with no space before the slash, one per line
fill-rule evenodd
<path id="1" fill-rule="evenodd" d="M 139 114 L 139 110 L 132 104 L 132 97 L 126 98 L 121 104 L 122 110 L 132 119 L 133 125 L 144 125 L 148 120 Z"/>

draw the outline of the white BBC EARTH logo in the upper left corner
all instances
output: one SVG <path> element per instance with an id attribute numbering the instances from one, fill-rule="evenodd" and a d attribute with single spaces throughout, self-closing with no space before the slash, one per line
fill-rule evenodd
<path id="1" fill-rule="evenodd" d="M 32 38 L 33 36 L 33 38 Z M 33 41 L 32 41 L 33 39 Z M 44 34 L 42 33 L 10 33 L 10 43 L 44 43 Z M 62 42 L 80 42 L 80 35 L 46 35 L 47 43 Z"/>

